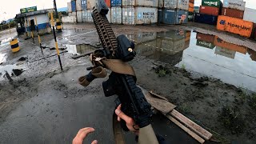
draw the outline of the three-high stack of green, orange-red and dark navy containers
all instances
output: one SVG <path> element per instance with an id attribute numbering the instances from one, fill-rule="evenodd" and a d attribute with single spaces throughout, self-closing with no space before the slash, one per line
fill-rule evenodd
<path id="1" fill-rule="evenodd" d="M 194 16 L 194 22 L 216 25 L 221 8 L 222 2 L 220 0 L 202 0 L 199 14 Z"/>

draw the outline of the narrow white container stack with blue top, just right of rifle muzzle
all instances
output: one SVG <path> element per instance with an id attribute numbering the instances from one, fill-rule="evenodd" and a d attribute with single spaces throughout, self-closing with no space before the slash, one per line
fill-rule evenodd
<path id="1" fill-rule="evenodd" d="M 122 24 L 122 0 L 111 0 L 110 21 L 114 24 Z"/>

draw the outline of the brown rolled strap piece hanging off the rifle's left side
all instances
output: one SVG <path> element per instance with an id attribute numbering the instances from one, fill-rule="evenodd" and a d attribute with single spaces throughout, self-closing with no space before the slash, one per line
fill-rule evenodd
<path id="1" fill-rule="evenodd" d="M 105 78 L 106 75 L 106 69 L 104 69 L 102 66 L 98 66 L 93 68 L 89 74 L 78 78 L 78 81 L 80 85 L 88 86 L 95 78 Z"/>

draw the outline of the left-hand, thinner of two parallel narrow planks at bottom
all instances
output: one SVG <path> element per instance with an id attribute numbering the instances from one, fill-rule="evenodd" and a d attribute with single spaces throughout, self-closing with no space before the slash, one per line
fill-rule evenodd
<path id="1" fill-rule="evenodd" d="M 170 119 L 171 122 L 174 122 L 178 127 L 182 128 L 182 130 L 186 131 L 187 134 L 190 134 L 191 137 L 193 137 L 195 140 L 197 140 L 200 143 L 204 143 L 205 140 L 198 136 L 198 134 L 195 134 L 193 131 L 188 129 L 186 126 L 183 126 L 181 122 L 178 122 L 175 118 L 170 116 L 170 114 L 166 114 L 166 117 Z"/>

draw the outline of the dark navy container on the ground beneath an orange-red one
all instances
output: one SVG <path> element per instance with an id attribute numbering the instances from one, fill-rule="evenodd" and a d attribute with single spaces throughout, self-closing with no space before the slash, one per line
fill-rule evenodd
<path id="1" fill-rule="evenodd" d="M 194 22 L 217 25 L 218 16 L 208 14 L 194 14 Z"/>

